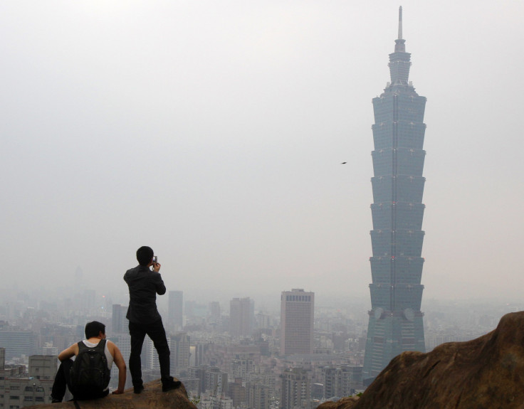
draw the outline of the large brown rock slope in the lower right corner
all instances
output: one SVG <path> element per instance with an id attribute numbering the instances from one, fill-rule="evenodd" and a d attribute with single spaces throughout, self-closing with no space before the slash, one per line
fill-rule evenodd
<path id="1" fill-rule="evenodd" d="M 427 354 L 404 352 L 359 399 L 319 409 L 524 409 L 524 312 L 502 317 L 489 334 Z"/>

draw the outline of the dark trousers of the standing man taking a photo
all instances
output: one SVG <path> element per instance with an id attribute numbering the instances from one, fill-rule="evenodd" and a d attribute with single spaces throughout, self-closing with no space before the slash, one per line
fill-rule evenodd
<path id="1" fill-rule="evenodd" d="M 131 354 L 129 356 L 129 371 L 133 386 L 142 386 L 142 345 L 146 334 L 153 341 L 154 348 L 158 353 L 160 364 L 160 377 L 162 383 L 169 381 L 169 345 L 167 345 L 166 331 L 162 319 L 152 322 L 151 324 L 137 324 L 129 322 L 129 334 L 131 336 Z"/>

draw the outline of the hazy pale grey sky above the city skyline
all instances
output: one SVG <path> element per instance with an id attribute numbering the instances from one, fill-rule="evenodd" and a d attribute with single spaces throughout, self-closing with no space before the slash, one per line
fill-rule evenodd
<path id="1" fill-rule="evenodd" d="M 398 7 L 427 97 L 424 299 L 523 297 L 524 2 L 0 2 L 2 287 L 369 297 Z M 340 164 L 347 161 L 347 164 Z"/>

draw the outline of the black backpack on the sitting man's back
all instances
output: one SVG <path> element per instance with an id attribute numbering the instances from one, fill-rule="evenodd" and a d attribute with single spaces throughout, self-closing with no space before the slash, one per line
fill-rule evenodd
<path id="1" fill-rule="evenodd" d="M 71 393 L 75 398 L 98 398 L 108 387 L 111 373 L 105 357 L 105 339 L 91 348 L 78 342 L 78 355 L 71 366 Z"/>

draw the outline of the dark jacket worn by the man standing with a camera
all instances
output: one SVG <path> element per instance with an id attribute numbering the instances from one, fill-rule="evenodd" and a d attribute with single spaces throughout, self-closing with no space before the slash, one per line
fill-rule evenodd
<path id="1" fill-rule="evenodd" d="M 160 273 L 137 265 L 125 272 L 124 280 L 129 287 L 129 308 L 125 317 L 137 324 L 151 324 L 162 319 L 157 310 L 157 294 L 165 294 L 166 286 Z"/>

